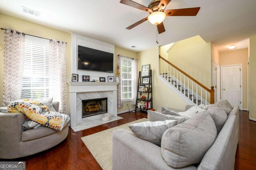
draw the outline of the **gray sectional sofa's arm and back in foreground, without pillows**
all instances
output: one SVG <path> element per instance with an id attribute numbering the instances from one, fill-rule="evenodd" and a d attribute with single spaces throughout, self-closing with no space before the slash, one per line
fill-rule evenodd
<path id="1" fill-rule="evenodd" d="M 191 106 L 186 106 L 187 110 Z M 178 110 L 176 110 L 178 111 Z M 156 115 L 157 114 L 157 115 Z M 148 112 L 148 119 L 164 116 Z M 150 120 L 151 121 L 151 120 Z M 140 139 L 125 129 L 113 132 L 113 170 L 233 170 L 239 137 L 239 107 L 234 106 L 213 145 L 198 165 L 172 168 L 166 164 L 161 147 Z"/>

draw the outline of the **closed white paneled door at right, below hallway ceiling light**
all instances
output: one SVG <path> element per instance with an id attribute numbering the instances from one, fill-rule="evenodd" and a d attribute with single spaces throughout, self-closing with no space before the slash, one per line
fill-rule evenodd
<path id="1" fill-rule="evenodd" d="M 241 104 L 241 65 L 221 66 L 222 99 L 232 106 Z M 242 107 L 240 106 L 240 109 Z"/>

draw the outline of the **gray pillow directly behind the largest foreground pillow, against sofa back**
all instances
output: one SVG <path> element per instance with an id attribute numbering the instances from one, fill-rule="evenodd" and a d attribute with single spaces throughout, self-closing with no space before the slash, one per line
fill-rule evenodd
<path id="1" fill-rule="evenodd" d="M 206 111 L 209 113 L 215 123 L 217 133 L 219 133 L 224 126 L 226 120 L 228 119 L 227 114 L 225 113 L 224 109 L 221 107 L 212 107 Z"/>

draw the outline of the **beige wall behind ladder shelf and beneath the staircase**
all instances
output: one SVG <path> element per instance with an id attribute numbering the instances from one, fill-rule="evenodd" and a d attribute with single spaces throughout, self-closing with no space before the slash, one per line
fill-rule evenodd
<path id="1" fill-rule="evenodd" d="M 138 70 L 145 64 L 150 64 L 150 69 L 152 69 L 153 108 L 157 110 L 161 109 L 161 106 L 168 105 L 168 107 L 185 109 L 186 102 L 159 78 L 159 51 L 159 47 L 152 47 L 138 53 Z"/>

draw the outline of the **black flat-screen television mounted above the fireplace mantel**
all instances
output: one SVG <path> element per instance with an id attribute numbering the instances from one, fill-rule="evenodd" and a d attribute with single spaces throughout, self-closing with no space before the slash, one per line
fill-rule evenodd
<path id="1" fill-rule="evenodd" d="M 78 69 L 113 72 L 114 54 L 78 45 Z"/>

